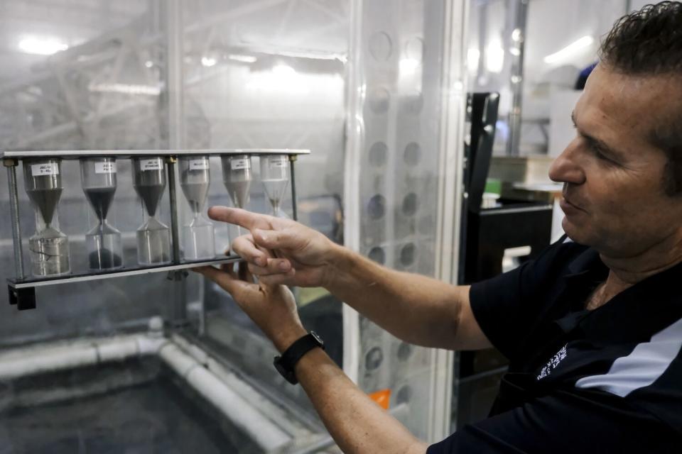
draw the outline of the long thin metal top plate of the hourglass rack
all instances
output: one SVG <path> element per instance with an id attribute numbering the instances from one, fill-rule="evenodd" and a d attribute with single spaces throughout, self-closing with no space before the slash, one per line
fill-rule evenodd
<path id="1" fill-rule="evenodd" d="M 309 155 L 310 150 L 291 148 L 229 148 L 224 150 L 45 150 L 45 151 L 5 151 L 0 158 L 23 159 L 26 157 L 79 157 L 112 156 L 179 156 L 179 155 Z"/>

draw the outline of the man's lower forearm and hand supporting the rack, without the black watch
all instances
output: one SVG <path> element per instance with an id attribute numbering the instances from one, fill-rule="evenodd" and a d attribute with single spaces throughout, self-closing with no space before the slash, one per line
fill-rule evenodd
<path id="1" fill-rule="evenodd" d="M 196 270 L 232 294 L 234 301 L 273 341 L 279 352 L 305 336 L 296 301 L 283 285 L 254 284 L 251 276 L 245 276 L 247 280 L 243 281 L 232 271 L 214 267 Z M 426 443 L 419 441 L 367 397 L 324 350 L 310 350 L 294 370 L 325 427 L 344 453 L 426 453 Z"/>

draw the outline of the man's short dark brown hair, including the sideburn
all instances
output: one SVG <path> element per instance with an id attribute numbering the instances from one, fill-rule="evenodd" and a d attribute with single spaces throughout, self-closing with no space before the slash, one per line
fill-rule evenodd
<path id="1" fill-rule="evenodd" d="M 602 40 L 599 57 L 624 74 L 682 76 L 682 2 L 661 1 L 623 16 Z M 656 126 L 649 140 L 668 156 L 666 194 L 682 194 L 682 111 Z"/>

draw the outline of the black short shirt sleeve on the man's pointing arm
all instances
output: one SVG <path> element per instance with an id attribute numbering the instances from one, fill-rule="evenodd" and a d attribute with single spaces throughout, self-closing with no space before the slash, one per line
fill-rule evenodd
<path id="1" fill-rule="evenodd" d="M 571 245 L 564 238 L 549 246 L 536 259 L 491 279 L 472 284 L 472 312 L 485 336 L 509 360 L 521 352 L 526 337 L 552 303 L 543 294 L 556 280 L 559 269 L 568 266 Z"/>

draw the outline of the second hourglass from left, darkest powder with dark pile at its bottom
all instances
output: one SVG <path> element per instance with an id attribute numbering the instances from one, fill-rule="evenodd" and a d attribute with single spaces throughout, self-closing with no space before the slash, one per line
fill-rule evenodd
<path id="1" fill-rule="evenodd" d="M 121 232 L 109 225 L 107 214 L 116 192 L 116 160 L 113 157 L 84 157 L 80 160 L 83 192 L 97 216 L 97 226 L 85 235 L 91 271 L 123 267 Z"/>

